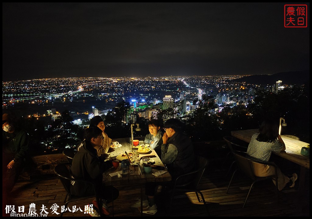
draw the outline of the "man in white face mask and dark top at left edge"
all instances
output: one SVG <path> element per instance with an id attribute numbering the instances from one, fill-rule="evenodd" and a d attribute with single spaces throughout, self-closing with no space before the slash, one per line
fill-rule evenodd
<path id="1" fill-rule="evenodd" d="M 28 155 L 28 134 L 17 128 L 13 119 L 2 114 L 2 188 L 12 191 Z"/>

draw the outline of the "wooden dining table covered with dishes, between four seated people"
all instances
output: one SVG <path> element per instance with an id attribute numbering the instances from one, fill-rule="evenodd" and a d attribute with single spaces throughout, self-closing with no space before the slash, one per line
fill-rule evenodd
<path id="1" fill-rule="evenodd" d="M 116 157 L 118 155 L 124 154 L 125 151 L 131 152 L 132 151 L 132 145 L 129 143 L 129 138 L 118 138 L 118 139 L 113 139 L 119 142 L 122 146 L 119 148 L 113 149 L 114 151 L 110 152 L 110 157 Z M 143 144 L 143 141 L 140 141 L 139 144 Z M 110 149 L 111 150 L 111 149 Z M 159 156 L 155 153 L 154 150 L 151 150 L 150 153 L 148 154 L 141 154 L 139 155 L 139 159 L 141 159 L 144 156 L 151 156 L 155 155 L 156 157 L 153 157 L 155 164 L 158 166 L 163 166 L 164 164 L 159 158 Z M 134 166 L 134 174 L 133 175 L 128 175 L 128 176 L 123 176 L 121 178 L 118 178 L 117 176 L 111 177 L 109 174 L 114 173 L 117 171 L 120 171 L 121 168 L 121 161 L 119 163 L 119 167 L 117 169 L 111 168 L 103 174 L 103 181 L 105 182 L 106 185 L 141 185 L 141 216 L 143 216 L 143 206 L 142 206 L 142 201 L 143 201 L 143 187 L 145 186 L 146 182 L 163 182 L 163 181 L 171 181 L 171 175 L 169 174 L 168 170 L 167 173 L 162 174 L 160 176 L 154 176 L 152 173 L 157 172 L 158 170 L 152 169 L 152 172 L 149 174 L 142 173 L 139 175 L 139 167 L 137 165 Z M 142 171 L 143 172 L 143 171 Z"/>

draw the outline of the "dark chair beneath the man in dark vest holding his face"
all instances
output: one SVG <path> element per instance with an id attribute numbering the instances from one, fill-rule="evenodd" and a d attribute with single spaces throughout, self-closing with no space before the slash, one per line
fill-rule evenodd
<path id="1" fill-rule="evenodd" d="M 198 202 L 203 202 L 205 207 L 206 207 L 205 198 L 204 198 L 202 192 L 197 189 L 197 187 L 198 187 L 199 181 L 201 180 L 202 175 L 203 175 L 203 173 L 204 173 L 204 171 L 208 165 L 208 160 L 202 156 L 195 156 L 195 160 L 196 160 L 196 164 L 197 164 L 196 165 L 197 169 L 188 173 L 188 174 L 181 175 L 175 180 L 172 195 L 171 195 L 169 209 L 171 207 L 173 197 L 174 197 L 174 194 L 176 193 L 176 190 L 183 191 L 183 192 L 189 192 L 189 191 L 195 192 Z M 183 179 L 186 179 L 186 178 L 188 179 L 188 177 L 190 175 L 193 175 L 192 181 L 190 181 L 188 183 L 181 183 L 181 182 L 185 182 L 185 180 L 183 180 Z M 200 200 L 198 193 L 201 195 L 202 200 Z"/>

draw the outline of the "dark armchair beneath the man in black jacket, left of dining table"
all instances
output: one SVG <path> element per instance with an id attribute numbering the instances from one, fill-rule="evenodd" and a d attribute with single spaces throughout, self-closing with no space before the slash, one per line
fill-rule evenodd
<path id="1" fill-rule="evenodd" d="M 100 216 L 104 216 L 103 212 L 102 212 L 102 201 L 100 199 L 100 196 L 99 194 L 96 193 L 96 190 L 95 190 L 95 185 L 91 182 L 88 182 L 88 181 L 84 181 L 84 180 L 78 180 L 78 179 L 74 179 L 71 177 L 71 174 L 70 174 L 70 170 L 67 166 L 70 166 L 70 164 L 66 163 L 66 164 L 57 164 L 54 168 L 54 173 L 58 176 L 58 178 L 60 179 L 65 191 L 66 191 L 66 197 L 64 199 L 64 203 L 65 203 L 65 208 L 67 207 L 68 203 L 69 202 L 76 202 L 76 201 L 79 201 L 79 200 L 85 200 L 85 199 L 89 199 L 89 198 L 96 198 L 96 201 L 98 203 L 98 207 L 99 207 L 99 213 L 100 213 Z M 95 195 L 92 195 L 92 196 L 84 196 L 84 197 L 81 197 L 81 196 L 75 196 L 75 195 L 72 195 L 71 194 L 71 189 L 70 189 L 70 185 L 71 185 L 71 182 L 72 181 L 75 181 L 75 182 L 84 182 L 84 183 L 89 183 L 93 186 L 94 188 L 94 193 Z M 61 217 L 63 216 L 63 213 L 61 213 Z"/>

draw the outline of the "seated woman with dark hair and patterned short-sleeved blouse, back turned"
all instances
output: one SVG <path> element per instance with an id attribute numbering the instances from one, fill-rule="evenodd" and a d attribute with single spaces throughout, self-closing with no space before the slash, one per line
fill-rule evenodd
<path id="1" fill-rule="evenodd" d="M 278 134 L 278 123 L 273 119 L 263 121 L 259 131 L 260 133 L 256 133 L 251 137 L 248 145 L 247 156 L 251 159 L 267 162 L 272 152 L 279 153 L 286 149 L 284 141 Z M 275 174 L 275 168 L 273 166 L 257 163 L 253 163 L 253 166 L 256 176 L 261 177 Z M 277 177 L 278 189 L 282 190 L 287 184 L 289 184 L 289 187 L 294 187 L 298 176 L 294 173 L 289 178 L 278 168 Z M 273 183 L 275 184 L 274 179 Z"/>

